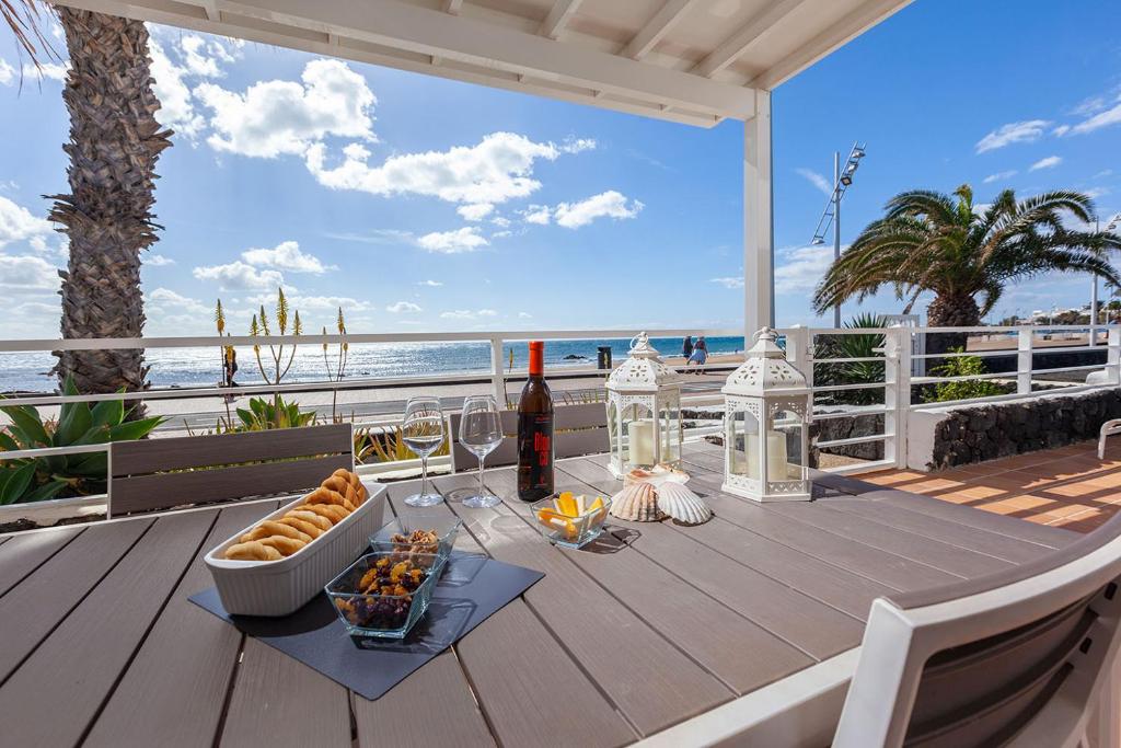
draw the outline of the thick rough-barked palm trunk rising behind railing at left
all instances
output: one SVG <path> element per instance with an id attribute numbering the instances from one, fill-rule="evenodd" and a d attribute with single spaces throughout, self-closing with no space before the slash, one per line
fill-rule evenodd
<path id="1" fill-rule="evenodd" d="M 141 21 L 58 7 L 71 71 L 63 101 L 71 118 L 71 193 L 50 219 L 70 238 L 62 277 L 63 338 L 140 338 L 140 252 L 156 242 L 156 160 L 172 145 L 156 121 L 148 31 Z M 56 351 L 59 380 L 83 394 L 148 387 L 143 350 Z M 141 408 L 137 408 L 133 417 Z"/>

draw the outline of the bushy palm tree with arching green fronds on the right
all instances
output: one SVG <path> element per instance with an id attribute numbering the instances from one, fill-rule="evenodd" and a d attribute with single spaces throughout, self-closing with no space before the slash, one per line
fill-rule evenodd
<path id="1" fill-rule="evenodd" d="M 1088 223 L 1094 204 L 1087 195 L 1058 191 L 1017 201 L 1006 190 L 991 205 L 974 205 L 966 184 L 954 196 L 916 190 L 892 197 L 884 216 L 868 224 L 825 274 L 814 294 L 817 313 L 890 285 L 898 298 L 908 298 L 905 314 L 919 294 L 934 292 L 928 324 L 969 327 L 1016 280 L 1054 270 L 1121 280 L 1103 257 L 1121 249 L 1121 237 L 1066 224 Z M 928 341 L 930 353 L 965 344 L 965 335 L 932 338 L 938 340 Z"/>

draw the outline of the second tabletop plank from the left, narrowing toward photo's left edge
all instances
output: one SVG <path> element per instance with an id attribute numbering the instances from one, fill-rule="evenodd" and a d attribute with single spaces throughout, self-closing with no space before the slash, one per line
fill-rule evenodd
<path id="1" fill-rule="evenodd" d="M 137 542 L 151 520 L 83 533 L 0 598 L 0 683 L 63 621 Z"/>

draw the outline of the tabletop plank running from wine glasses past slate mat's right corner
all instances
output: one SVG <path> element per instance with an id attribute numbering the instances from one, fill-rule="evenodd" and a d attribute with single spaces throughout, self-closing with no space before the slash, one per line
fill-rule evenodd
<path id="1" fill-rule="evenodd" d="M 475 477 L 466 474 L 436 480 L 445 495 L 475 484 Z M 545 572 L 545 579 L 526 592 L 526 600 L 642 735 L 734 695 L 675 646 L 675 639 L 658 634 L 620 603 L 509 507 L 472 509 L 456 502 L 450 508 L 494 558 Z M 574 600 L 580 603 L 574 606 Z M 652 650 L 659 656 L 650 657 Z"/>

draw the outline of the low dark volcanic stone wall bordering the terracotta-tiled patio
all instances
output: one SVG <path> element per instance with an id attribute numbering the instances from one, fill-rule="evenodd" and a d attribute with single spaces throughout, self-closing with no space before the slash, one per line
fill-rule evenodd
<path id="1" fill-rule="evenodd" d="M 1121 388 L 965 406 L 938 416 L 929 422 L 934 433 L 928 470 L 1096 438 L 1103 422 L 1121 418 Z M 911 427 L 921 430 L 915 418 Z M 908 452 L 912 443 L 909 435 Z"/>

